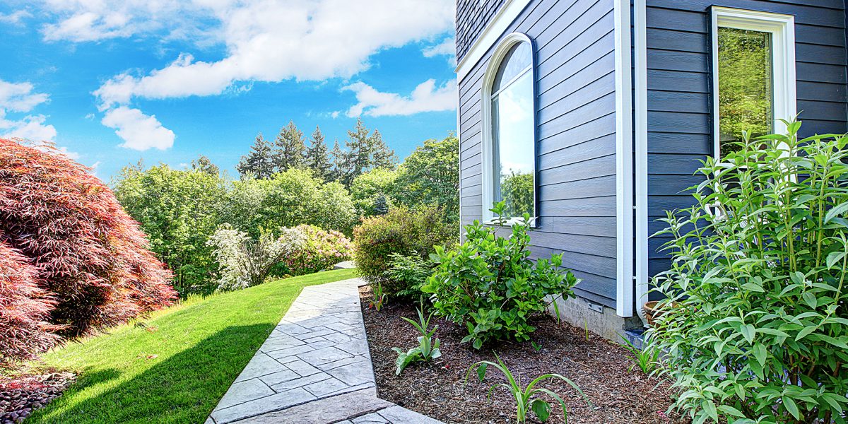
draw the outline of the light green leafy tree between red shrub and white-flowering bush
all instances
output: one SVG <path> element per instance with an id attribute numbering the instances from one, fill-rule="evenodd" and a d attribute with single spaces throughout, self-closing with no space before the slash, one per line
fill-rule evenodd
<path id="1" fill-rule="evenodd" d="M 148 234 L 151 250 L 174 271 L 181 296 L 214 285 L 217 267 L 206 241 L 220 222 L 226 198 L 224 180 L 216 172 L 128 166 L 114 187 L 120 204 Z"/>

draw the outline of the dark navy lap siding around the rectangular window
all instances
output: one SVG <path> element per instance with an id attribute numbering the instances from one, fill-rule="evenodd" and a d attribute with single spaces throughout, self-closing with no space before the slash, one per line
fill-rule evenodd
<path id="1" fill-rule="evenodd" d="M 711 5 L 795 15 L 797 109 L 802 135 L 844 133 L 846 108 L 845 1 L 647 0 L 649 232 L 667 209 L 684 208 L 692 174 L 712 154 Z M 650 275 L 665 271 L 659 251 L 667 237 L 649 241 Z"/>

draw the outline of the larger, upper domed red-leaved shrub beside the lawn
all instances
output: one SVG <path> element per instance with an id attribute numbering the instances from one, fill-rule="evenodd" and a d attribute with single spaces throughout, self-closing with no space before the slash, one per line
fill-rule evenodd
<path id="1" fill-rule="evenodd" d="M 53 293 L 53 324 L 90 334 L 169 305 L 171 273 L 109 187 L 52 146 L 0 139 L 0 232 Z"/>

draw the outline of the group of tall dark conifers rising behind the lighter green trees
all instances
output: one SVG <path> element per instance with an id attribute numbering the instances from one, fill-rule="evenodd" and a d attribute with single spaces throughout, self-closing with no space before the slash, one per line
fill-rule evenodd
<path id="1" fill-rule="evenodd" d="M 344 147 L 337 139 L 332 149 L 327 148 L 321 127 L 315 126 L 307 140 L 304 131 L 289 121 L 272 141 L 260 132 L 236 170 L 242 178 L 267 180 L 289 169 L 308 169 L 315 178 L 340 181 L 350 187 L 356 176 L 368 170 L 394 168 L 397 164 L 397 155 L 383 142 L 380 131 L 369 131 L 362 120 L 356 120 L 354 129 L 348 131 Z"/>

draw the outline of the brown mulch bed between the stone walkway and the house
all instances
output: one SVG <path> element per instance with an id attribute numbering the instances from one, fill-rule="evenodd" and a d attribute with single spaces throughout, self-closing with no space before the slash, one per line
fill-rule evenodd
<path id="1" fill-rule="evenodd" d="M 479 382 L 472 372 L 465 383 L 468 367 L 478 360 L 494 361 L 494 349 L 523 384 L 546 373 L 559 373 L 577 383 L 591 405 L 566 382 L 551 380 L 540 385 L 565 400 L 569 423 L 686 422 L 679 416 L 665 414 L 671 404 L 667 383 L 656 388 L 656 379 L 638 369 L 628 371 L 632 362 L 626 349 L 592 333 L 587 340 L 582 328 L 552 319 L 534 322 L 537 330 L 533 341 L 541 345 L 538 352 L 531 343 L 502 343 L 477 351 L 471 343 L 460 343 L 466 335 L 463 327 L 439 320 L 436 337 L 442 343 L 442 357 L 432 364 L 411 365 L 395 376 L 397 354 L 392 348 L 406 350 L 417 346 L 416 331 L 400 317 L 415 319 L 416 311 L 412 306 L 387 304 L 377 312 L 368 307 L 369 289 L 360 290 L 381 399 L 449 423 L 515 422 L 515 400 L 505 389 L 495 390 L 491 401 L 486 399 L 490 385 L 505 381 L 499 371 L 489 367 L 485 383 Z M 529 422 L 538 421 L 533 417 Z M 564 422 L 559 406 L 551 412 L 548 422 Z"/>

